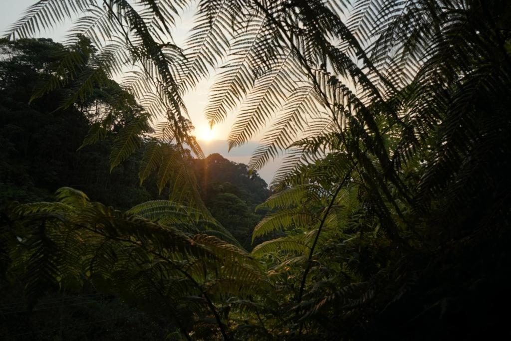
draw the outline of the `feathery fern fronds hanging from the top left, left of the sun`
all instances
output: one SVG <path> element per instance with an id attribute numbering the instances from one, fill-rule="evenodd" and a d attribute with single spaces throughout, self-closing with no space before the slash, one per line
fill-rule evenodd
<path id="1" fill-rule="evenodd" d="M 101 85 L 108 78 L 119 76 L 132 68 L 135 73 L 126 78 L 126 89 L 132 91 L 136 100 L 153 117 L 164 117 L 168 120 L 168 129 L 172 131 L 168 136 L 172 138 L 166 142 L 176 143 L 178 150 L 188 145 L 197 156 L 203 157 L 198 143 L 189 135 L 186 108 L 181 100 L 182 89 L 179 84 L 190 82 L 183 80 L 183 77 L 190 78 L 183 76 L 183 72 L 194 77 L 198 75 L 197 72 L 200 73 L 200 68 L 195 68 L 201 65 L 201 58 L 204 56 L 199 53 L 197 62 L 190 66 L 185 62 L 187 59 L 183 59 L 185 54 L 168 41 L 172 39 L 169 36 L 170 23 L 174 21 L 174 16 L 188 5 L 185 1 L 142 1 L 135 9 L 134 4 L 128 1 L 40 1 L 29 8 L 24 17 L 11 27 L 8 37 L 33 35 L 55 27 L 60 21 L 72 20 L 77 16 L 67 37 L 67 44 L 72 47 L 61 59 L 61 66 L 55 77 L 41 86 L 35 96 L 72 82 L 72 91 L 62 104 L 69 106 L 78 99 L 84 99 L 92 91 L 93 85 Z M 207 26 L 207 22 L 205 24 Z M 207 30 L 207 27 L 203 27 L 203 30 Z M 84 51 L 84 44 L 80 44 L 83 39 L 80 37 L 89 39 L 95 52 Z M 211 45 L 211 42 L 204 44 Z M 200 50 L 207 53 L 210 47 Z M 78 65 L 83 65 L 84 58 L 91 54 L 95 57 L 90 67 L 86 70 L 77 68 Z M 110 124 L 108 118 L 106 116 L 103 123 L 94 126 L 85 143 L 95 142 L 105 135 L 104 130 Z M 143 119 L 135 118 L 120 132 L 114 142 L 111 167 L 117 166 L 134 151 L 140 139 L 137 135 L 147 130 Z M 169 158 L 167 161 L 176 162 L 175 168 L 178 169 L 184 169 L 186 163 L 181 157 Z M 142 175 L 147 176 L 148 172 L 146 169 Z M 195 191 L 195 179 L 189 172 L 164 174 L 160 178 L 161 183 L 168 183 L 169 179 L 173 178 L 173 183 L 179 183 L 174 185 L 175 188 L 186 188 L 187 192 Z M 180 196 L 183 197 L 182 193 Z M 198 199 L 197 193 L 189 196 L 189 201 L 194 199 Z M 194 205 L 200 207 L 200 200 Z"/>

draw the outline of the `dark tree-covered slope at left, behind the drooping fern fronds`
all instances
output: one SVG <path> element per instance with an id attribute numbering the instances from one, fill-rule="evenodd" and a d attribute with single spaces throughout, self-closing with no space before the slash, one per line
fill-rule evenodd
<path id="1" fill-rule="evenodd" d="M 129 110 L 123 108 L 114 118 L 110 137 L 126 125 L 133 111 L 140 110 L 132 96 L 117 83 L 107 81 L 103 86 L 96 84 L 94 91 L 74 106 L 59 108 L 68 88 L 29 104 L 34 88 L 58 67 L 64 47 L 46 39 L 21 39 L 4 40 L 0 48 L 2 203 L 49 200 L 64 185 L 120 208 L 149 200 L 150 194 L 137 186 L 135 158 L 109 175 L 112 138 L 77 151 L 97 116 L 109 107 L 109 96 L 121 92 L 131 101 L 126 103 Z"/>

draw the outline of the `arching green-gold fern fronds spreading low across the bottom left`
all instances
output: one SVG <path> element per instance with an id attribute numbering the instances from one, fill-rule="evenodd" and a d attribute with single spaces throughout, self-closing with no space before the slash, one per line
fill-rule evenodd
<path id="1" fill-rule="evenodd" d="M 59 202 L 19 205 L 12 212 L 22 228 L 9 231 L 18 247 L 11 249 L 16 258 L 8 272 L 26 274 L 31 302 L 49 288 L 90 281 L 149 311 L 170 309 L 189 333 L 208 316 L 223 328 L 215 306 L 222 298 L 268 294 L 271 285 L 259 264 L 207 235 L 216 230 L 233 239 L 191 208 L 160 201 L 123 213 L 72 188 L 59 189 L 57 197 Z"/>

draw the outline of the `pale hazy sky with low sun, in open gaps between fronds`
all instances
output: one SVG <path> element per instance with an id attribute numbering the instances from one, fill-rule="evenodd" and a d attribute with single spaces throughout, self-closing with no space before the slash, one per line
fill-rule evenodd
<path id="1" fill-rule="evenodd" d="M 0 32 L 4 33 L 8 27 L 21 17 L 22 13 L 32 4 L 36 3 L 36 0 L 0 0 Z M 173 34 L 176 44 L 182 46 L 182 42 L 187 37 L 188 31 L 191 29 L 193 22 L 193 12 L 185 12 L 181 18 L 177 18 L 176 28 Z M 49 37 L 58 41 L 65 36 L 65 32 L 69 27 L 70 23 L 63 23 L 59 28 L 51 30 L 49 32 L 41 33 L 41 37 Z M 201 139 L 209 135 L 211 140 L 201 140 L 200 144 L 204 150 L 204 154 L 208 155 L 211 153 L 220 153 L 224 157 L 235 161 L 247 163 L 250 159 L 250 155 L 253 150 L 257 147 L 260 136 L 257 136 L 254 140 L 249 141 L 242 147 L 227 152 L 227 142 L 225 139 L 230 130 L 230 126 L 233 124 L 234 115 L 231 114 L 222 123 L 213 128 L 213 131 L 209 131 L 207 120 L 203 115 L 203 109 L 207 103 L 208 90 L 213 84 L 214 75 L 211 79 L 206 79 L 197 84 L 195 91 L 186 94 L 183 98 L 184 103 L 187 105 L 190 113 L 190 118 L 195 126 L 194 134 Z M 273 174 L 278 167 L 278 161 L 268 164 L 259 173 L 267 183 L 270 183 Z"/>

